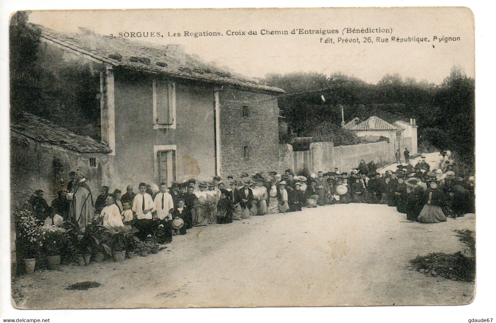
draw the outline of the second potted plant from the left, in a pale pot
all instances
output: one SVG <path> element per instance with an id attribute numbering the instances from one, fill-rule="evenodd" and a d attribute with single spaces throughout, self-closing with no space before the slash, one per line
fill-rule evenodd
<path id="1" fill-rule="evenodd" d="M 59 269 L 61 264 L 61 252 L 65 246 L 65 230 L 56 226 L 41 226 L 40 247 L 42 254 L 46 257 L 50 270 Z"/>

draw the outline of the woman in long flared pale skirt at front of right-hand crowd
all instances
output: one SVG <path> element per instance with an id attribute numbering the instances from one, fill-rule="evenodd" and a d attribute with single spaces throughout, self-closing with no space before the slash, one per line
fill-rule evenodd
<path id="1" fill-rule="evenodd" d="M 444 196 L 442 191 L 437 187 L 437 179 L 430 177 L 426 181 L 429 182 L 430 187 L 425 192 L 425 205 L 417 221 L 422 223 L 444 222 L 446 221 L 446 216 L 441 209 L 444 206 Z"/>

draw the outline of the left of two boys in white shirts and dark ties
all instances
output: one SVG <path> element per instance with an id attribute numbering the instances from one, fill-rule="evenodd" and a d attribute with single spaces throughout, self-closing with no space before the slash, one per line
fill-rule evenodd
<path id="1" fill-rule="evenodd" d="M 155 211 L 155 205 L 151 195 L 146 193 L 146 183 L 139 183 L 138 189 L 139 194 L 132 200 L 131 210 L 136 215 L 138 237 L 140 240 L 144 240 L 151 229 L 152 212 Z"/>

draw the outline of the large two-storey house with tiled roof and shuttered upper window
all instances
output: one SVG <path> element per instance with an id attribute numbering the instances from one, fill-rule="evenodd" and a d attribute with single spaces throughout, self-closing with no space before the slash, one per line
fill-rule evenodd
<path id="1" fill-rule="evenodd" d="M 98 92 L 83 94 L 98 100 L 87 110 L 99 113 L 86 118 L 97 129 L 90 137 L 108 150 L 103 184 L 124 189 L 277 166 L 277 96 L 283 90 L 203 62 L 180 45 L 111 38 L 83 28 L 78 33 L 37 28 L 41 49 L 62 55 L 46 64 L 88 70 L 88 78 L 96 80 Z M 63 114 L 63 105 L 58 109 L 54 115 Z M 75 129 L 82 121 L 68 119 L 61 126 Z"/>

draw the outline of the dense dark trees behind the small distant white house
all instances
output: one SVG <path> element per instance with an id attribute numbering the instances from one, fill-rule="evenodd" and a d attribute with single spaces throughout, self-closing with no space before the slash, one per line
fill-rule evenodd
<path id="1" fill-rule="evenodd" d="M 266 82 L 286 91 L 279 98 L 279 108 L 298 136 L 319 133 L 328 137 L 328 132 L 341 124 L 343 106 L 346 122 L 372 115 L 388 122 L 414 118 L 421 144 L 425 141 L 424 146 L 450 149 L 473 164 L 475 81 L 459 66 L 453 66 L 440 85 L 403 79 L 398 74 L 387 74 L 377 84 L 319 73 L 269 74 Z M 320 132 L 325 129 L 329 130 Z"/>

